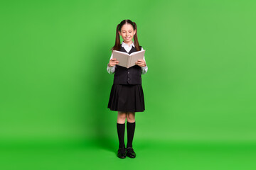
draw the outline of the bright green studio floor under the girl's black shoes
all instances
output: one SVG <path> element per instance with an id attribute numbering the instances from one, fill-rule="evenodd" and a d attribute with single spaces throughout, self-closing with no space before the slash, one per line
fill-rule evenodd
<path id="1" fill-rule="evenodd" d="M 0 169 L 256 169 L 254 143 L 137 141 L 135 159 L 119 159 L 112 140 L 4 143 Z"/>

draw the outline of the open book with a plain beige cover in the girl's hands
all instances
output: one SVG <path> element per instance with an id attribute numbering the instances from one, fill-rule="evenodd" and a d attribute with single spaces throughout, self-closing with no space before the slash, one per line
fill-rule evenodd
<path id="1" fill-rule="evenodd" d="M 132 52 L 130 55 L 127 52 L 120 52 L 117 50 L 113 50 L 113 58 L 116 58 L 119 61 L 119 66 L 122 67 L 132 67 L 135 65 L 135 62 L 138 60 L 143 60 L 145 54 L 145 50 L 140 50 L 137 52 Z"/>

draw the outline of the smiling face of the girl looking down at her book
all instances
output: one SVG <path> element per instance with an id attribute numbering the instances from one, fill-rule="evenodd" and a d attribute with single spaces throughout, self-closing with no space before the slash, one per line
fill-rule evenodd
<path id="1" fill-rule="evenodd" d="M 126 44 L 132 44 L 132 38 L 134 37 L 136 30 L 133 29 L 131 24 L 124 24 L 121 28 L 121 32 L 119 32 L 119 35 L 122 36 L 122 39 L 124 40 L 124 43 Z"/>

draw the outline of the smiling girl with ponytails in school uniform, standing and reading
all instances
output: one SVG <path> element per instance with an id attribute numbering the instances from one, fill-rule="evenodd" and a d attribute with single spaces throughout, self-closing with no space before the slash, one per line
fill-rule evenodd
<path id="1" fill-rule="evenodd" d="M 122 44 L 120 37 L 122 36 Z M 134 42 L 132 41 L 134 38 Z M 137 38 L 136 23 L 130 20 L 124 20 L 117 25 L 115 45 L 113 50 L 119 50 L 131 54 L 139 50 L 143 50 L 139 46 Z M 144 94 L 142 89 L 142 74 L 147 72 L 145 57 L 143 60 L 138 60 L 133 67 L 121 67 L 117 65 L 119 62 L 110 57 L 110 62 L 107 64 L 107 72 L 114 73 L 114 84 L 110 92 L 110 100 L 107 108 L 111 111 L 117 111 L 117 135 L 119 139 L 119 149 L 117 157 L 119 158 L 135 158 L 136 154 L 132 148 L 132 140 L 135 130 L 135 112 L 143 112 Z M 124 145 L 124 129 L 125 120 L 127 118 L 127 146 Z"/>

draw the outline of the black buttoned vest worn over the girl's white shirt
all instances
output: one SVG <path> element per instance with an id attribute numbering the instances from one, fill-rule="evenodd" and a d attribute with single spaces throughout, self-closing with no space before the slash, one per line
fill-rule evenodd
<path id="1" fill-rule="evenodd" d="M 139 46 L 139 49 L 142 49 L 142 46 Z M 127 52 L 122 45 L 119 51 Z M 131 54 L 132 52 L 137 52 L 136 48 L 133 46 L 128 53 Z M 114 84 L 142 84 L 142 68 L 138 65 L 134 65 L 127 69 L 126 67 L 116 65 Z"/>

